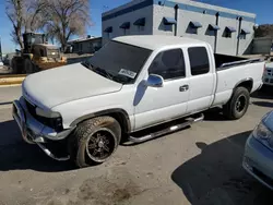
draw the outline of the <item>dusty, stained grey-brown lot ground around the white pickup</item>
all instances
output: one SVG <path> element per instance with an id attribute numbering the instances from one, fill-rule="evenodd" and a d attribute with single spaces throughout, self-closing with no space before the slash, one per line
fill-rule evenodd
<path id="1" fill-rule="evenodd" d="M 120 146 L 106 164 L 85 169 L 23 143 L 0 102 L 0 205 L 272 204 L 272 192 L 241 168 L 248 135 L 273 108 L 269 93 L 256 95 L 238 121 L 212 111 L 191 129 Z"/>

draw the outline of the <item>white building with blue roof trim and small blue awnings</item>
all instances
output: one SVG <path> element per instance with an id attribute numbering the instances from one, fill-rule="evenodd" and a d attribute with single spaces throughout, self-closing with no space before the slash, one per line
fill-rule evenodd
<path id="1" fill-rule="evenodd" d="M 174 35 L 207 41 L 217 53 L 251 50 L 256 14 L 190 0 L 133 0 L 105 12 L 103 44 L 122 35 Z"/>

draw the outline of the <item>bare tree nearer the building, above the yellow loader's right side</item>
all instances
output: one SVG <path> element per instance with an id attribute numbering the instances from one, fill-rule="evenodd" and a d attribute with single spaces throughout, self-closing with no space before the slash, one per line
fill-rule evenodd
<path id="1" fill-rule="evenodd" d="M 64 48 L 71 35 L 82 36 L 91 25 L 88 0 L 45 0 L 48 8 L 44 11 L 45 31 Z"/>

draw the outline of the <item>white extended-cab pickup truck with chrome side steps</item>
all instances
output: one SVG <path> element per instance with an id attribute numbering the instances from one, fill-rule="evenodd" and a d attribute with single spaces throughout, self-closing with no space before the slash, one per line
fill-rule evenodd
<path id="1" fill-rule="evenodd" d="M 174 132 L 202 120 L 198 113 L 212 107 L 223 106 L 228 119 L 241 118 L 263 70 L 262 61 L 214 55 L 195 39 L 118 37 L 87 62 L 28 75 L 13 117 L 27 143 L 86 167 L 104 162 L 121 141 Z M 185 117 L 183 123 L 135 135 Z"/>

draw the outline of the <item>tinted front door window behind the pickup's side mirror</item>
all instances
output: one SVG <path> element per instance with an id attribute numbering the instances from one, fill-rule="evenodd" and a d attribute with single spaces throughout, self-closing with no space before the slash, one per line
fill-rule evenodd
<path id="1" fill-rule="evenodd" d="M 158 74 L 164 80 L 185 77 L 185 60 L 181 49 L 159 52 L 149 68 L 149 74 Z"/>

